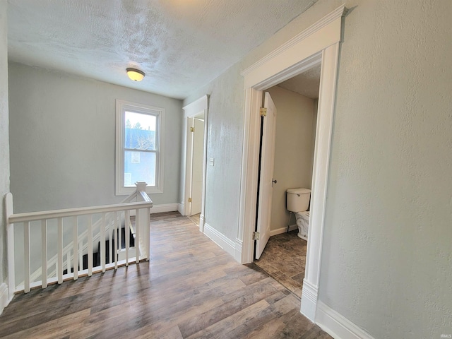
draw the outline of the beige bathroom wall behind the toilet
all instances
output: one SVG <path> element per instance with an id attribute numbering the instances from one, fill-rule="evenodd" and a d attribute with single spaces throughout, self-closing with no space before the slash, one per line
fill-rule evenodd
<path id="1" fill-rule="evenodd" d="M 268 90 L 275 102 L 276 117 L 275 167 L 270 229 L 287 227 L 290 213 L 286 210 L 286 191 L 297 187 L 311 189 L 312 124 L 314 100 L 278 86 Z M 295 225 L 292 215 L 291 225 Z"/>

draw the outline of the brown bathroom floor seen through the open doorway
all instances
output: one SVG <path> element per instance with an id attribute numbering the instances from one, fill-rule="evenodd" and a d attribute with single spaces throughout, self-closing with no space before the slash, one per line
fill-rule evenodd
<path id="1" fill-rule="evenodd" d="M 270 237 L 261 258 L 254 263 L 301 298 L 308 242 L 297 234 L 298 230 L 293 230 Z"/>

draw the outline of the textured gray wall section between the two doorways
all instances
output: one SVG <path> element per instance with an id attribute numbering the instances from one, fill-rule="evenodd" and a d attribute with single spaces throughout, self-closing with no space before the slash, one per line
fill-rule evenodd
<path id="1" fill-rule="evenodd" d="M 215 158 L 206 173 L 206 223 L 234 241 L 239 222 L 243 139 L 243 87 L 237 65 L 216 81 L 198 89 L 184 105 L 210 94 L 207 158 Z M 237 93 L 238 90 L 238 93 Z"/>

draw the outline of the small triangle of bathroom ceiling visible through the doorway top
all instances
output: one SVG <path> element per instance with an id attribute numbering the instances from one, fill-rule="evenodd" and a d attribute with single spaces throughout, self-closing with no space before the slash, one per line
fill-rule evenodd
<path id="1" fill-rule="evenodd" d="M 298 76 L 294 76 L 278 84 L 278 86 L 304 95 L 305 97 L 317 99 L 319 97 L 320 69 L 321 65 L 315 66 Z"/>

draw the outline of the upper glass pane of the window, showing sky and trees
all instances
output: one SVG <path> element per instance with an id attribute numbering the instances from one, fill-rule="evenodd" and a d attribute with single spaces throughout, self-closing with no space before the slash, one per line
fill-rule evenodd
<path id="1" fill-rule="evenodd" d="M 133 150 L 156 150 L 154 115 L 126 111 L 124 148 Z"/>

